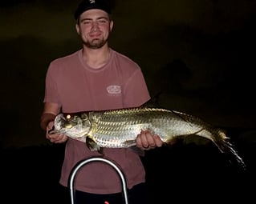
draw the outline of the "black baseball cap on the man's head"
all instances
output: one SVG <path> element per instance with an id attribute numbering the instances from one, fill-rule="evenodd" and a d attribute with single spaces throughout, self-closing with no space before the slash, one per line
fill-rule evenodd
<path id="1" fill-rule="evenodd" d="M 108 14 L 111 14 L 111 5 L 108 0 L 83 0 L 75 10 L 75 20 L 77 20 L 80 14 L 83 14 L 84 11 L 91 9 L 104 10 Z"/>

